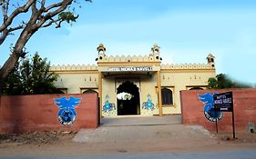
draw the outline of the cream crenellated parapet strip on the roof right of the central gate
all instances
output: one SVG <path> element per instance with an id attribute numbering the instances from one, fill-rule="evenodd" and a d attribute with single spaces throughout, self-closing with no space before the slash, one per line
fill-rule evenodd
<path id="1" fill-rule="evenodd" d="M 161 65 L 161 69 L 166 70 L 173 70 L 173 69 L 186 69 L 186 70 L 192 70 L 192 69 L 214 69 L 211 65 L 205 65 L 205 64 L 180 64 L 180 65 Z"/>

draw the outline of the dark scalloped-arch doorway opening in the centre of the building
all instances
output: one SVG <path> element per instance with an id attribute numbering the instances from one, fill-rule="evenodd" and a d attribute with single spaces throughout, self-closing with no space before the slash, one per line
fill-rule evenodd
<path id="1" fill-rule="evenodd" d="M 118 94 L 132 94 L 130 100 L 118 99 L 118 115 L 140 114 L 138 86 L 129 81 L 118 86 Z"/>

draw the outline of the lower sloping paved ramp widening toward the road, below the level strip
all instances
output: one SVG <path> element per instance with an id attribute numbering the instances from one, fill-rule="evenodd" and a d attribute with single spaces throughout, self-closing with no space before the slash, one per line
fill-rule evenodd
<path id="1" fill-rule="evenodd" d="M 212 141 L 214 135 L 202 126 L 183 124 L 100 126 L 97 129 L 81 129 L 73 141 L 80 143 L 170 143 Z M 213 142 L 216 144 L 216 142 Z M 212 143 L 211 143 L 212 144 Z"/>

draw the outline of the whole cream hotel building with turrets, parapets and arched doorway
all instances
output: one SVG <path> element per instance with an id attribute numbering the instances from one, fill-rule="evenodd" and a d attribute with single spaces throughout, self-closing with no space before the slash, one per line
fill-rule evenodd
<path id="1" fill-rule="evenodd" d="M 108 56 L 104 45 L 97 52 L 97 65 L 53 65 L 51 71 L 66 94 L 97 92 L 102 116 L 181 114 L 179 91 L 205 89 L 215 77 L 213 55 L 207 64 L 162 65 L 158 45 L 144 56 Z"/>

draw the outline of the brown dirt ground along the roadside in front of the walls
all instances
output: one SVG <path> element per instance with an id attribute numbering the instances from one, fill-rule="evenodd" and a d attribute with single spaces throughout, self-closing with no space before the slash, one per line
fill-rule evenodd
<path id="1" fill-rule="evenodd" d="M 77 132 L 36 132 L 1 134 L 0 156 L 81 156 L 97 154 L 141 154 L 212 152 L 229 149 L 255 149 L 256 134 L 239 132 L 214 134 L 209 140 L 179 139 L 166 141 L 123 141 L 79 143 L 73 138 Z"/>

